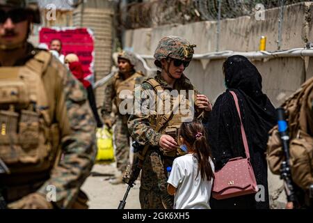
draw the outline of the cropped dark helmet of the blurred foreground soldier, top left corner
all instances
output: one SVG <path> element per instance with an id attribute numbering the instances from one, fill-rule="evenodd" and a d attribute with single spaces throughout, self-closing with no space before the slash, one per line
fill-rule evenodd
<path id="1" fill-rule="evenodd" d="M 29 13 L 29 15 L 32 16 L 32 22 L 40 24 L 40 11 L 38 8 L 38 3 L 35 1 L 27 1 L 26 3 L 26 0 L 0 0 L 0 7 L 24 8 Z"/>

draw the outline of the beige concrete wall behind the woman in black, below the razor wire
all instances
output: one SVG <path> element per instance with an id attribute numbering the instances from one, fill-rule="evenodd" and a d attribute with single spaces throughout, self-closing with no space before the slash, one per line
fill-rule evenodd
<path id="1" fill-rule="evenodd" d="M 281 49 L 304 47 L 307 42 L 313 41 L 312 9 L 312 2 L 298 3 L 284 9 Z M 278 50 L 279 12 L 278 8 L 266 10 L 264 21 L 257 21 L 254 16 L 222 20 L 218 38 L 219 51 L 257 51 L 260 36 L 267 38 L 266 50 Z M 216 28 L 217 22 L 207 21 L 159 26 L 153 29 L 128 30 L 124 35 L 124 47 L 133 48 L 138 54 L 153 55 L 154 49 L 163 36 L 176 35 L 195 43 L 196 54 L 215 52 Z M 223 61 L 225 60 L 193 60 L 185 71 L 193 84 L 213 102 L 220 93 L 225 91 L 222 75 Z M 147 62 L 152 66 L 152 61 Z M 284 98 L 298 89 L 306 79 L 313 77 L 313 58 L 262 59 L 252 61 L 252 63 L 262 74 L 264 93 L 275 106 L 279 106 Z M 273 176 L 271 173 L 269 173 L 268 180 L 272 199 L 276 197 L 275 193 L 282 186 L 282 182 L 278 176 Z M 286 201 L 284 192 L 275 200 L 271 202 L 272 208 L 282 208 Z"/>

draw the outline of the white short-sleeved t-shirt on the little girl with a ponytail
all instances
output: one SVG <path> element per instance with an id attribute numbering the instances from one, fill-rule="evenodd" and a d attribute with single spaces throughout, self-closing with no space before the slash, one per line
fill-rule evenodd
<path id="1" fill-rule="evenodd" d="M 214 164 L 209 158 L 212 170 Z M 174 197 L 174 209 L 210 209 L 211 180 L 203 180 L 201 174 L 197 178 L 198 161 L 192 154 L 177 157 L 172 163 L 172 171 L 168 183 L 177 188 Z M 205 177 L 207 178 L 207 177 Z"/>

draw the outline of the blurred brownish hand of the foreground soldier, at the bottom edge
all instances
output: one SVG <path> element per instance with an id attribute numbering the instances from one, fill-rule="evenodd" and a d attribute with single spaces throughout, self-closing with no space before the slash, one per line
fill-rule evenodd
<path id="1" fill-rule="evenodd" d="M 39 193 L 29 194 L 22 199 L 8 204 L 10 209 L 53 209 L 51 202 L 47 201 L 45 195 Z"/>

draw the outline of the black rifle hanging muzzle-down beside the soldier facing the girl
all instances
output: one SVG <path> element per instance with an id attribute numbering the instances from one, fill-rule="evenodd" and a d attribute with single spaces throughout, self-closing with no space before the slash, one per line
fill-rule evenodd
<path id="1" fill-rule="evenodd" d="M 127 190 L 124 194 L 122 201 L 120 201 L 118 209 L 124 209 L 125 208 L 126 199 L 127 199 L 129 190 L 131 189 L 131 187 L 134 187 L 134 185 L 136 185 L 135 181 L 137 180 L 137 178 L 141 172 L 141 169 L 143 167 L 144 155 L 142 153 L 146 153 L 146 150 L 143 149 L 144 146 L 141 146 L 140 144 L 138 144 L 137 141 L 134 141 L 132 146 L 134 148 L 134 153 L 138 153 L 138 154 L 136 154 L 136 157 L 134 159 L 134 164 L 129 165 L 127 167 L 127 169 L 125 171 L 125 175 L 123 176 L 123 181 L 128 184 L 128 187 L 127 187 Z M 141 153 L 141 154 L 139 154 L 139 153 Z"/>

